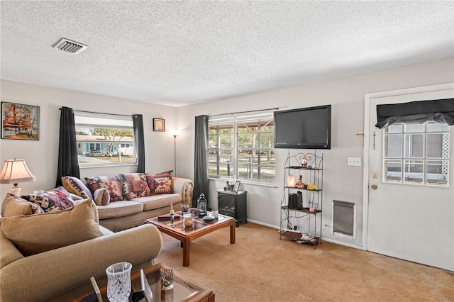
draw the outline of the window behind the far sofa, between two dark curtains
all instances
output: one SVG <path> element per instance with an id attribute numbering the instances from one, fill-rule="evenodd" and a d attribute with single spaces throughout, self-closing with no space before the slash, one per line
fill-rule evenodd
<path id="1" fill-rule="evenodd" d="M 132 116 L 74 111 L 80 167 L 135 164 Z"/>

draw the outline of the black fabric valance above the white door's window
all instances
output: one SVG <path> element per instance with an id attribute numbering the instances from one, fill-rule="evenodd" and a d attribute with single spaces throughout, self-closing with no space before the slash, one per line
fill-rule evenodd
<path id="1" fill-rule="evenodd" d="M 377 128 L 395 123 L 436 123 L 454 125 L 454 99 L 412 101 L 402 104 L 377 105 Z"/>

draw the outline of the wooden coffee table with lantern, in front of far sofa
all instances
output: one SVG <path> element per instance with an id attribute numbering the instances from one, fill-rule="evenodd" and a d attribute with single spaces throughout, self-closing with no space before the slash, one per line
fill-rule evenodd
<path id="1" fill-rule="evenodd" d="M 182 242 L 183 247 L 183 266 L 189 267 L 189 246 L 192 240 L 195 240 L 203 235 L 214 232 L 221 228 L 230 227 L 230 243 L 235 243 L 235 218 L 219 214 L 218 219 L 213 222 L 206 222 L 196 216 L 196 208 L 189 208 L 192 213 L 192 228 L 184 228 L 183 216 L 179 213 L 175 214 L 175 223 L 170 223 L 170 218 L 150 218 L 145 220 L 145 223 L 155 225 L 162 233 L 170 235 Z"/>

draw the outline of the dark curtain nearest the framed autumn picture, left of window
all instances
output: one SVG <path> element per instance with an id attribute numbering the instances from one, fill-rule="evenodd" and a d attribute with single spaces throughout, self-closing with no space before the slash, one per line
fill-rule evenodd
<path id="1" fill-rule="evenodd" d="M 64 176 L 80 178 L 74 113 L 72 108 L 68 107 L 62 107 L 60 113 L 60 142 L 58 145 L 56 186 L 62 186 L 62 177 Z"/>

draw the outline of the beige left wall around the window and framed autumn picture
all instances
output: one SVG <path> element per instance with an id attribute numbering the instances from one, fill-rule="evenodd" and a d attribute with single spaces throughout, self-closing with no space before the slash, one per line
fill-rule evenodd
<path id="1" fill-rule="evenodd" d="M 153 118 L 164 118 L 167 129 L 175 127 L 175 108 L 145 104 L 128 99 L 86 94 L 79 91 L 53 89 L 43 86 L 1 81 L 1 101 L 40 106 L 40 139 L 0 140 L 0 160 L 26 160 L 37 180 L 19 184 L 22 194 L 37 189 L 52 189 L 57 177 L 60 110 L 62 106 L 74 110 L 132 115 L 143 114 L 147 172 L 173 169 L 173 137 L 169 131 L 154 132 Z M 81 177 L 135 172 L 137 166 L 81 169 Z M 9 184 L 0 186 L 0 196 L 9 191 Z"/>

